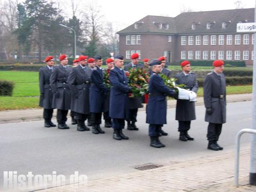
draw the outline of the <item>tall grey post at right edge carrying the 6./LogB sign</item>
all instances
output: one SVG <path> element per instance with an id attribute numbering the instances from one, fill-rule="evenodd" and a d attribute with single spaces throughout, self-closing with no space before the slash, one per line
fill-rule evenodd
<path id="1" fill-rule="evenodd" d="M 254 9 L 254 22 L 256 22 L 256 0 Z M 254 32 L 253 46 L 253 81 L 252 81 L 252 129 L 256 130 L 256 33 Z M 256 185 L 256 136 L 251 136 L 251 157 L 250 157 L 250 185 Z"/>

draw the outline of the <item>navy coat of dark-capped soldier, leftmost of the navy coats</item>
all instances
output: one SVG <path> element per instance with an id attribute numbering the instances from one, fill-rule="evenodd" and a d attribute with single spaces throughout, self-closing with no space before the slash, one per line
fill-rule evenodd
<path id="1" fill-rule="evenodd" d="M 104 111 L 104 99 L 108 89 L 103 84 L 103 72 L 96 66 L 91 75 L 90 112 L 101 113 Z"/>

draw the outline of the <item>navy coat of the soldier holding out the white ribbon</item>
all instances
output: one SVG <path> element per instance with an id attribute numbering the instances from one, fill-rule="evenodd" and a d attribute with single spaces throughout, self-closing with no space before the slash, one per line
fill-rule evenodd
<path id="1" fill-rule="evenodd" d="M 148 90 L 150 98 L 147 102 L 146 123 L 166 124 L 166 95 L 173 96 L 174 91 L 165 86 L 163 79 L 154 72 L 150 77 Z"/>

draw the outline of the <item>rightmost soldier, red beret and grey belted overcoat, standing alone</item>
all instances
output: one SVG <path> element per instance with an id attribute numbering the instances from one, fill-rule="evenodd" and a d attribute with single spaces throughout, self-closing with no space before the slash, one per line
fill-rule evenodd
<path id="1" fill-rule="evenodd" d="M 223 150 L 219 140 L 222 124 L 226 122 L 226 81 L 222 73 L 224 62 L 215 60 L 214 71 L 208 73 L 204 80 L 204 105 L 206 108 L 205 121 L 209 122 L 207 130 L 208 149 Z"/>

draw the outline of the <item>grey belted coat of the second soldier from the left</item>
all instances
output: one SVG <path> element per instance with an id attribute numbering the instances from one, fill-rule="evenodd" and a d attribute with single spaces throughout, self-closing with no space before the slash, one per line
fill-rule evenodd
<path id="1" fill-rule="evenodd" d="M 71 67 L 67 66 L 65 69 L 62 65 L 53 68 L 50 83 L 54 93 L 52 101 L 52 108 L 54 109 L 70 109 L 71 90 L 67 81 L 71 70 Z"/>

